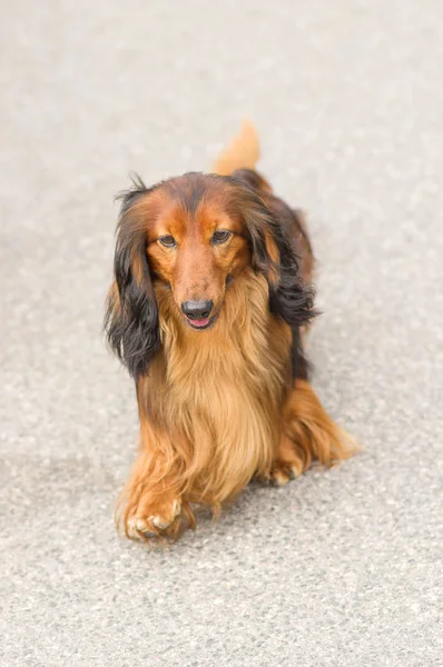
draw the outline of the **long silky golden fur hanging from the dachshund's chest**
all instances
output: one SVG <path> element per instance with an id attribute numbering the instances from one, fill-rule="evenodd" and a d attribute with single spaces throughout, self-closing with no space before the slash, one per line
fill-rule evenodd
<path id="1" fill-rule="evenodd" d="M 210 488 L 216 501 L 269 472 L 287 389 L 291 330 L 269 315 L 264 280 L 242 287 L 227 295 L 214 330 L 184 332 L 169 317 L 147 396 L 198 459 L 196 490 Z"/>

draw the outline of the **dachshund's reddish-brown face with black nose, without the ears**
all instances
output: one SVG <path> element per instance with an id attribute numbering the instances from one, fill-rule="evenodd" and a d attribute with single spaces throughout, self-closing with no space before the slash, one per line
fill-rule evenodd
<path id="1" fill-rule="evenodd" d="M 147 202 L 157 209 L 147 229 L 150 270 L 170 287 L 184 323 L 198 331 L 215 325 L 226 287 L 250 262 L 229 190 L 220 193 L 215 182 L 204 192 L 196 192 L 195 183 L 184 185 L 178 193 L 163 187 Z"/>

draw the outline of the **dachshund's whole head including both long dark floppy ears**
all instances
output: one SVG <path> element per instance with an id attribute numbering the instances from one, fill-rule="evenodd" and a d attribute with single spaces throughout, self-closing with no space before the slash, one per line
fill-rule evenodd
<path id="1" fill-rule="evenodd" d="M 121 199 L 106 330 L 136 378 L 160 347 L 157 285 L 171 290 L 183 326 L 200 336 L 247 267 L 266 277 L 274 315 L 293 327 L 312 317 L 291 240 L 235 175 L 188 173 L 149 189 L 137 180 Z"/>

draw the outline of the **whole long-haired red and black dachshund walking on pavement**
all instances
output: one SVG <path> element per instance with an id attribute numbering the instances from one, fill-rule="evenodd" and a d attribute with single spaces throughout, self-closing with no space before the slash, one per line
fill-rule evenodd
<path id="1" fill-rule="evenodd" d="M 253 478 L 283 485 L 353 451 L 307 379 L 304 219 L 255 171 L 258 152 L 245 123 L 214 173 L 121 196 L 106 330 L 137 386 L 128 537 L 175 537 L 191 504 L 217 512 Z"/>

